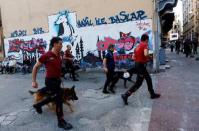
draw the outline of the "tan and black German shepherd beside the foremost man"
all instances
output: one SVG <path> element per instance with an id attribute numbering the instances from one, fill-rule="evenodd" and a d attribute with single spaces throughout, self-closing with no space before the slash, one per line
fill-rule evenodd
<path id="1" fill-rule="evenodd" d="M 61 88 L 61 91 L 62 91 L 61 94 L 62 94 L 63 103 L 69 107 L 71 112 L 74 112 L 72 105 L 69 101 L 78 100 L 78 97 L 75 92 L 75 86 L 71 88 Z M 34 96 L 34 103 L 38 103 L 44 98 L 52 95 L 50 94 L 50 92 L 43 93 L 39 91 L 30 91 L 30 90 L 29 93 Z M 49 107 L 50 110 L 56 111 L 55 102 L 50 102 L 49 104 L 47 104 L 47 106 Z"/>

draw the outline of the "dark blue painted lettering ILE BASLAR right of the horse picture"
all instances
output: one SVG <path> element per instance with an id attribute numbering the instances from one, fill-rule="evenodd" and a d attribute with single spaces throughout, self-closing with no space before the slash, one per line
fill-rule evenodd
<path id="1" fill-rule="evenodd" d="M 146 18 L 147 18 L 146 13 L 143 10 L 138 10 L 132 13 L 121 11 L 118 15 L 110 16 L 107 19 L 105 17 L 95 18 L 95 22 L 92 22 L 91 19 L 89 19 L 88 17 L 85 17 L 83 20 L 78 20 L 77 25 L 80 28 L 80 27 L 87 27 L 87 26 L 93 26 L 93 25 L 125 23 L 128 21 L 144 20 Z"/>

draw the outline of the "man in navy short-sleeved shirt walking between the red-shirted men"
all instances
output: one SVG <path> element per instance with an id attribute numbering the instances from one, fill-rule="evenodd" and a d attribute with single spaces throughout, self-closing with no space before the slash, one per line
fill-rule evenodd
<path id="1" fill-rule="evenodd" d="M 114 51 L 114 45 L 110 44 L 106 52 L 105 58 L 103 60 L 104 71 L 106 73 L 106 81 L 105 81 L 102 92 L 105 94 L 109 93 L 107 90 L 107 87 L 113 81 L 113 76 L 115 73 L 115 61 L 113 57 L 113 51 Z M 113 87 L 114 87 L 114 83 L 111 83 L 109 91 L 111 91 L 112 93 L 115 93 L 115 91 L 113 90 Z"/>

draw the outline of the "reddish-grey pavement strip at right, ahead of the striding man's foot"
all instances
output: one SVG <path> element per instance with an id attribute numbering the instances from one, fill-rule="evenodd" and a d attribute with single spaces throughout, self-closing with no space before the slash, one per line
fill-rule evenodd
<path id="1" fill-rule="evenodd" d="M 157 76 L 162 97 L 153 103 L 149 131 L 198 131 L 199 61 L 167 56 L 171 69 Z"/>

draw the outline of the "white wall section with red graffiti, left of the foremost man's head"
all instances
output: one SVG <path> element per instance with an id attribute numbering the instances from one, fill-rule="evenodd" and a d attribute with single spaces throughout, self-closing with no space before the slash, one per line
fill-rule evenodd
<path id="1" fill-rule="evenodd" d="M 37 59 L 48 49 L 49 39 L 48 34 L 5 39 L 5 55 L 18 60 L 23 57 Z"/>

